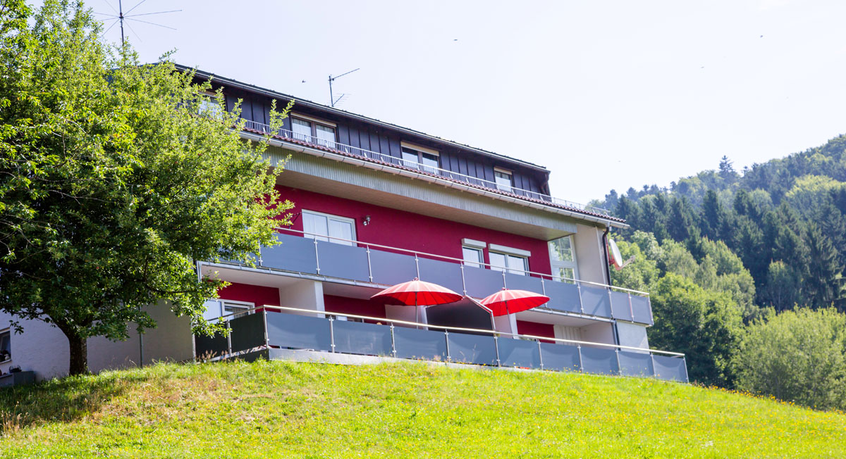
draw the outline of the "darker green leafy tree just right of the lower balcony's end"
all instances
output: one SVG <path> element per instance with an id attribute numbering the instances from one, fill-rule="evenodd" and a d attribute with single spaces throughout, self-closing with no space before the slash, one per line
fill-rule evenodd
<path id="1" fill-rule="evenodd" d="M 731 385 L 729 362 L 742 320 L 728 294 L 707 292 L 689 279 L 668 273 L 656 283 L 651 298 L 655 325 L 650 345 L 684 352 L 690 380 Z"/>

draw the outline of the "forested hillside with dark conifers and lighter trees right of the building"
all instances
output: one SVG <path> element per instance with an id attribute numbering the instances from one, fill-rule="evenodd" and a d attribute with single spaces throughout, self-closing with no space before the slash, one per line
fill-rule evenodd
<path id="1" fill-rule="evenodd" d="M 651 292 L 691 380 L 846 409 L 846 136 L 593 204 L 629 221 L 612 281 Z"/>

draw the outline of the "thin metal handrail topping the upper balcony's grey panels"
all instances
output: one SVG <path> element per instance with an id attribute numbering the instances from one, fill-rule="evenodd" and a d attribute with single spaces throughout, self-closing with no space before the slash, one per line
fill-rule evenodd
<path id="1" fill-rule="evenodd" d="M 596 286 L 596 287 L 608 288 L 608 289 L 611 289 L 611 290 L 617 290 L 619 292 L 634 293 L 636 295 L 645 296 L 645 297 L 649 296 L 649 292 L 640 292 L 640 290 L 632 290 L 630 288 L 617 287 L 617 286 L 602 284 L 602 283 L 599 283 L 599 282 L 582 281 L 580 279 L 573 279 L 573 278 L 564 277 L 564 276 L 552 276 L 550 274 L 546 274 L 546 273 L 542 273 L 542 272 L 536 272 L 536 271 L 530 271 L 530 270 L 517 270 L 517 269 L 508 268 L 508 267 L 504 267 L 504 266 L 492 265 L 490 263 L 482 263 L 481 261 L 479 261 L 479 262 L 477 262 L 477 261 L 467 261 L 467 260 L 460 259 L 460 258 L 450 257 L 450 256 L 447 256 L 447 255 L 429 254 L 427 252 L 420 252 L 419 250 L 399 249 L 398 247 L 391 247 L 389 245 L 382 245 L 382 244 L 378 244 L 378 243 L 365 243 L 365 242 L 362 242 L 362 241 L 356 241 L 354 239 L 330 237 L 330 236 L 327 236 L 325 234 L 318 234 L 316 232 L 299 231 L 299 230 L 286 228 L 286 227 L 276 227 L 276 229 L 277 229 L 277 231 L 293 232 L 293 233 L 296 233 L 296 234 L 301 234 L 306 238 L 313 238 L 315 240 L 315 243 L 318 240 L 327 240 L 329 242 L 338 241 L 338 242 L 346 243 L 345 245 L 351 245 L 351 246 L 355 246 L 355 247 L 365 247 L 367 249 L 386 249 L 386 250 L 390 250 L 390 251 L 393 251 L 393 252 L 411 254 L 411 255 L 415 256 L 415 260 L 419 260 L 419 258 L 422 256 L 422 257 L 427 258 L 427 259 L 444 260 L 444 261 L 448 261 L 450 263 L 455 263 L 455 264 L 462 265 L 462 266 L 470 265 L 470 266 L 473 266 L 473 267 L 485 267 L 486 269 L 489 269 L 489 270 L 501 271 L 503 273 L 503 282 L 504 282 L 505 274 L 509 273 L 509 274 L 518 274 L 518 275 L 522 275 L 522 276 L 540 277 L 541 279 L 548 280 L 548 281 L 566 281 L 566 282 L 569 282 L 569 283 L 591 285 L 591 286 Z M 418 277 L 420 277 L 419 269 L 420 269 L 420 266 L 418 265 L 418 272 L 417 272 Z"/>

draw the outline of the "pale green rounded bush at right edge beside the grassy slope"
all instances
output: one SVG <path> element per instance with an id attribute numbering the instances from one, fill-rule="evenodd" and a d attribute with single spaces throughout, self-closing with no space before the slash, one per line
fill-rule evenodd
<path id="1" fill-rule="evenodd" d="M 846 314 L 769 314 L 744 333 L 733 361 L 740 389 L 821 409 L 846 408 Z"/>

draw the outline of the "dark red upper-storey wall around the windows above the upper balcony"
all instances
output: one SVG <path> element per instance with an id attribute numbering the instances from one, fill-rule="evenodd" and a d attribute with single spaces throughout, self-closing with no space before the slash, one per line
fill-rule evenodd
<path id="1" fill-rule="evenodd" d="M 529 270 L 543 274 L 551 273 L 547 242 L 541 239 L 526 238 L 508 232 L 474 227 L 303 189 L 281 186 L 277 189 L 283 199 L 290 199 L 294 203 L 294 209 L 289 210 L 291 215 L 294 215 L 294 225 L 290 227 L 294 230 L 303 230 L 303 221 L 295 214 L 304 209 L 315 210 L 354 219 L 355 234 L 361 242 L 378 243 L 399 249 L 417 250 L 460 259 L 462 258 L 461 239 L 470 238 L 514 249 L 529 250 L 532 254 Z M 362 219 L 368 215 L 371 216 L 370 224 L 362 225 Z M 490 263 L 487 249 L 485 249 L 485 261 Z"/>

